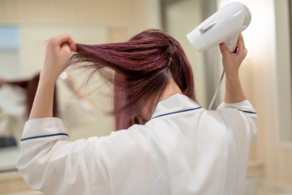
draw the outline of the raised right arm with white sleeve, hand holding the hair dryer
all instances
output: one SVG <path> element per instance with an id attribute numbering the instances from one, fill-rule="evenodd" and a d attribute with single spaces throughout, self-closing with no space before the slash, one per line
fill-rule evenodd
<path id="1" fill-rule="evenodd" d="M 222 109 L 218 109 L 218 113 L 229 128 L 234 130 L 234 139 L 237 140 L 238 145 L 251 145 L 257 139 L 257 114 L 252 104 L 246 100 L 238 76 L 239 67 L 247 55 L 242 34 L 239 34 L 237 44 L 236 53 L 230 53 L 224 42 L 219 45 L 226 74 L 226 90 L 224 102 L 219 105 Z"/>

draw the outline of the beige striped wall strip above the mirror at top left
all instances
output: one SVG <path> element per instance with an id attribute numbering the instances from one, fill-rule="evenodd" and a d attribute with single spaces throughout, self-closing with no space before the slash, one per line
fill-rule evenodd
<path id="1" fill-rule="evenodd" d="M 139 31 L 149 27 L 150 2 L 155 3 L 146 0 L 1 0 L 0 22 L 131 23 L 134 31 Z"/>

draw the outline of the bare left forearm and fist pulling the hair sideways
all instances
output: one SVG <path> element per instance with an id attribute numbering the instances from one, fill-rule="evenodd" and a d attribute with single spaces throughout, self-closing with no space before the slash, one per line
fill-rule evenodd
<path id="1" fill-rule="evenodd" d="M 69 34 L 46 40 L 45 59 L 29 119 L 53 116 L 54 87 L 59 74 L 65 69 L 70 52 L 76 51 L 75 41 Z"/>

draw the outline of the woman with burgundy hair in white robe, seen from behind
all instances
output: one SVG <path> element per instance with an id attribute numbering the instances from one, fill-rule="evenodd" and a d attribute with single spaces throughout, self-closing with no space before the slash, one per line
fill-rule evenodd
<path id="1" fill-rule="evenodd" d="M 46 55 L 17 167 L 47 194 L 242 194 L 256 113 L 238 77 L 245 58 L 220 45 L 226 72 L 216 111 L 196 103 L 193 73 L 181 45 L 159 30 L 118 44 L 75 44 L 68 34 L 46 41 Z M 87 62 L 105 76 L 115 71 L 116 130 L 71 142 L 52 118 L 54 84 L 67 66 Z M 83 63 L 84 64 L 84 63 Z M 106 74 L 108 73 L 108 74 Z"/>

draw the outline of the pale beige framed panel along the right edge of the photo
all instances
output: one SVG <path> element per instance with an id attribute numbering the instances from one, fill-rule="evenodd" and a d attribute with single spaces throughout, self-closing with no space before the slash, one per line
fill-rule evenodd
<path id="1" fill-rule="evenodd" d="M 288 1 L 275 1 L 276 66 L 274 66 L 277 144 L 292 150 L 292 86 Z M 292 166 L 292 165 L 291 165 Z"/>

